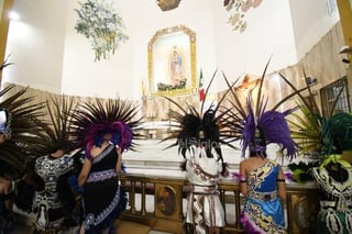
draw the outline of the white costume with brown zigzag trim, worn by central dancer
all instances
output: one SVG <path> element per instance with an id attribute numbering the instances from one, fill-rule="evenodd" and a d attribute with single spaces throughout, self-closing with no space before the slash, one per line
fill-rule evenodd
<path id="1" fill-rule="evenodd" d="M 207 233 L 207 226 L 224 226 L 224 211 L 219 198 L 218 180 L 221 167 L 217 158 L 191 157 L 186 165 L 187 179 L 193 185 L 188 197 L 186 222 L 195 224 L 195 233 Z"/>

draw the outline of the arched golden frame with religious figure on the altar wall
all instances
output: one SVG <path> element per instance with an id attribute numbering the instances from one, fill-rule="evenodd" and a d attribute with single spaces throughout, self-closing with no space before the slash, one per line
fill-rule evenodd
<path id="1" fill-rule="evenodd" d="M 197 92 L 196 34 L 185 25 L 157 31 L 147 45 L 148 96 Z"/>

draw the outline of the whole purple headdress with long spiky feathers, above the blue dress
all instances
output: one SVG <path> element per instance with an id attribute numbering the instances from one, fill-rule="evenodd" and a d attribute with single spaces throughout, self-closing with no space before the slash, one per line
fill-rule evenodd
<path id="1" fill-rule="evenodd" d="M 223 75 L 234 100 L 230 101 L 233 109 L 228 113 L 229 120 L 231 120 L 230 129 L 234 133 L 234 138 L 240 140 L 242 143 L 242 157 L 245 156 L 246 149 L 265 157 L 266 145 L 275 143 L 280 146 L 282 155 L 286 155 L 289 159 L 293 159 L 297 154 L 298 147 L 290 137 L 290 129 L 285 116 L 294 112 L 297 108 L 288 109 L 284 112 L 279 112 L 276 109 L 295 93 L 280 100 L 271 110 L 266 110 L 267 99 L 264 100 L 262 87 L 267 66 L 268 63 L 262 75 L 261 82 L 258 82 L 260 86 L 256 87 L 257 99 L 254 102 L 252 98 L 253 90 L 249 91 L 246 108 L 244 108 L 241 102 L 239 93 L 232 89 L 232 86 L 234 86 L 239 79 L 231 86 Z"/>

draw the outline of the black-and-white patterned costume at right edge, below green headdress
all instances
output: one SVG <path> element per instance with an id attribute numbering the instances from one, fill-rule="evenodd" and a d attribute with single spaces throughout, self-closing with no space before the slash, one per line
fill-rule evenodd
<path id="1" fill-rule="evenodd" d="M 344 167 L 346 179 L 337 181 L 324 167 L 315 167 L 311 175 L 323 191 L 326 200 L 320 201 L 317 233 L 352 233 L 352 167 Z"/>

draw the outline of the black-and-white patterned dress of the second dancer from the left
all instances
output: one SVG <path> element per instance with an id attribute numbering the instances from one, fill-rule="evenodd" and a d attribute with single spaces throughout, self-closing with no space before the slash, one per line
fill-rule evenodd
<path id="1" fill-rule="evenodd" d="M 35 161 L 35 171 L 44 180 L 45 189 L 36 191 L 33 209 L 37 210 L 35 226 L 37 230 L 58 227 L 65 220 L 63 202 L 59 199 L 58 178 L 73 169 L 74 159 L 68 155 L 59 158 L 43 156 Z"/>

